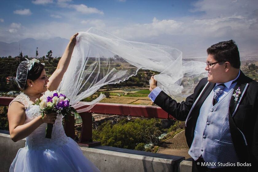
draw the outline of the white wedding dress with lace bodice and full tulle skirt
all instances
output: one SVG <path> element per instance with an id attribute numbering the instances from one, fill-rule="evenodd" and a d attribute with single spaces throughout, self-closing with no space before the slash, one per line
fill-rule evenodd
<path id="1" fill-rule="evenodd" d="M 18 95 L 13 101 L 20 102 L 25 106 L 26 118 L 24 123 L 28 123 L 41 115 L 39 106 L 33 105 L 33 102 L 24 93 Z M 19 149 L 10 166 L 10 172 L 99 171 L 83 155 L 77 143 L 65 135 L 62 118 L 63 115 L 57 115 L 51 139 L 45 138 L 47 123 L 41 124 L 26 137 L 25 147 Z"/>

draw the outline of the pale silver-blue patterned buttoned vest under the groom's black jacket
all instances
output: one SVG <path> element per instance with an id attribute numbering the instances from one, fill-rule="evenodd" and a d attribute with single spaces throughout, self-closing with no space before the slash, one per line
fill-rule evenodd
<path id="1" fill-rule="evenodd" d="M 239 162 L 229 129 L 229 102 L 233 88 L 214 106 L 213 94 L 212 90 L 201 106 L 188 153 L 195 161 L 202 155 L 205 162 Z M 217 164 L 207 167 L 220 168 Z"/>

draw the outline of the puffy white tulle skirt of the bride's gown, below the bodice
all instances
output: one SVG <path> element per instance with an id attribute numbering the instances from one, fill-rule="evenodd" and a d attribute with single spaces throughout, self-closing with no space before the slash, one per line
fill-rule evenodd
<path id="1" fill-rule="evenodd" d="M 61 147 L 45 150 L 19 149 L 10 172 L 97 172 L 97 167 L 82 153 L 77 143 L 68 138 Z"/>

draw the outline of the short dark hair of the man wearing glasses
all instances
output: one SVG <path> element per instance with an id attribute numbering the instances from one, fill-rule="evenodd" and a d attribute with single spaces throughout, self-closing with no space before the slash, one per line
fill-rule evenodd
<path id="1" fill-rule="evenodd" d="M 207 53 L 219 62 L 228 61 L 234 68 L 240 68 L 239 51 L 234 40 L 214 44 L 207 49 Z"/>

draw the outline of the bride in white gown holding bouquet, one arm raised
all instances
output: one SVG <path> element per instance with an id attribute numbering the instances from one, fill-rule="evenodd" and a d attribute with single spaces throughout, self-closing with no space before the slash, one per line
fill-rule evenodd
<path id="1" fill-rule="evenodd" d="M 70 63 L 77 35 L 71 37 L 49 79 L 44 64 L 37 60 L 22 61 L 18 66 L 16 82 L 23 93 L 10 103 L 8 121 L 11 139 L 17 142 L 26 138 L 26 143 L 19 149 L 10 171 L 99 171 L 84 157 L 77 143 L 65 135 L 63 115 L 50 113 L 42 118 L 39 106 L 33 105 L 47 89 L 57 90 Z M 52 139 L 45 138 L 47 123 L 54 124 Z"/>

